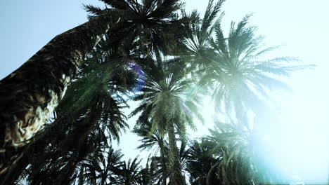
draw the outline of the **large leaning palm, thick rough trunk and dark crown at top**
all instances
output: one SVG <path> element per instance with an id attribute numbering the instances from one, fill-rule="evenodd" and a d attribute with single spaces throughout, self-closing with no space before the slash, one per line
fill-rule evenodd
<path id="1" fill-rule="evenodd" d="M 1 153 L 8 147 L 24 146 L 34 137 L 65 94 L 86 54 L 109 29 L 111 33 L 121 29 L 136 30 L 133 39 L 138 39 L 136 34 L 142 38 L 141 35 L 150 33 L 138 32 L 139 27 L 145 27 L 144 31 L 153 27 L 151 33 L 162 32 L 162 28 L 168 28 L 177 18 L 174 12 L 181 8 L 179 0 L 148 0 L 143 4 L 134 0 L 102 1 L 110 7 L 102 10 L 86 6 L 98 16 L 91 16 L 89 22 L 56 36 L 1 81 Z M 160 37 L 154 38 L 161 42 Z M 6 166 L 1 169 L 1 173 L 5 172 Z"/>

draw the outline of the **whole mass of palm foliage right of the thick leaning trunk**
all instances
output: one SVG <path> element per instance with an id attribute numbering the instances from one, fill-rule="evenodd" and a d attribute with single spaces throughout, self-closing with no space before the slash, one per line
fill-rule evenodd
<path id="1" fill-rule="evenodd" d="M 310 66 L 292 64 L 292 57 L 267 60 L 275 48 L 264 48 L 250 15 L 232 22 L 225 36 L 222 0 L 210 0 L 203 18 L 175 0 L 101 1 L 105 8 L 84 6 L 89 18 L 117 14 L 117 30 L 86 55 L 51 124 L 22 149 L 3 183 L 278 183 L 246 113 L 260 114 L 269 90 L 288 88 L 278 76 Z M 188 128 L 207 116 L 200 114 L 207 94 L 232 123 L 217 121 L 209 135 L 189 140 Z M 126 115 L 130 100 L 138 107 Z M 145 165 L 112 148 L 133 116 L 137 149 L 153 151 Z"/>

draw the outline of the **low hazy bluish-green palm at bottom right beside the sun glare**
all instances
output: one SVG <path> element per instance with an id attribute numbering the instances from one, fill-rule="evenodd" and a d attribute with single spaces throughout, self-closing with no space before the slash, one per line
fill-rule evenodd
<path id="1" fill-rule="evenodd" d="M 241 129 L 236 124 L 217 122 L 210 135 L 204 137 L 212 146 L 212 155 L 217 156 L 207 174 L 207 184 L 212 184 L 213 173 L 221 184 L 277 184 L 277 172 L 263 160 L 257 151 L 254 133 Z M 217 171 L 217 172 L 216 172 Z"/>

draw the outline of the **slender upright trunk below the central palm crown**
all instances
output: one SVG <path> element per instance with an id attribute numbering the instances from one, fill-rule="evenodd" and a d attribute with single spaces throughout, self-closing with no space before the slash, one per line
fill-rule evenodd
<path id="1" fill-rule="evenodd" d="M 168 138 L 169 138 L 169 183 L 171 185 L 183 185 L 185 179 L 181 174 L 181 162 L 179 160 L 179 149 L 176 144 L 176 135 L 174 132 L 174 123 L 169 121 Z"/>

